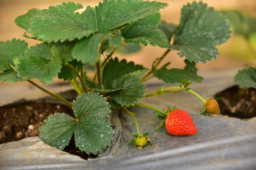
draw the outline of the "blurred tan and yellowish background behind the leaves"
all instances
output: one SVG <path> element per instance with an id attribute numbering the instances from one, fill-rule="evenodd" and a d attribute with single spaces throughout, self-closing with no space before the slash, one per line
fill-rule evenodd
<path id="1" fill-rule="evenodd" d="M 55 6 L 57 3 L 62 3 L 63 1 L 64 0 L 0 0 L 0 41 L 11 40 L 14 37 L 16 39 L 20 38 L 25 40 L 22 36 L 25 31 L 16 26 L 14 23 L 15 18 L 21 14 L 25 14 L 31 8 L 44 9 L 49 6 Z M 72 1 L 74 3 L 81 3 L 84 8 L 86 8 L 86 6 L 96 6 L 99 3 L 99 0 Z M 180 9 L 183 5 L 188 2 L 192 2 L 192 0 L 159 1 L 169 4 L 167 8 L 160 10 L 162 20 L 172 22 L 174 24 L 179 23 Z M 68 2 L 68 0 L 64 2 Z M 236 9 L 244 14 L 256 17 L 256 0 L 203 0 L 203 2 L 217 10 Z M 84 11 L 84 9 L 81 11 Z M 40 41 L 32 39 L 27 39 L 26 41 L 29 43 L 29 46 L 40 43 Z M 256 48 L 256 35 L 251 37 L 251 42 L 253 42 L 253 45 Z M 228 42 L 219 45 L 217 48 L 220 51 L 220 55 L 217 59 L 212 60 L 211 62 L 207 61 L 206 64 L 198 63 L 197 67 L 199 71 L 239 68 L 249 64 L 256 64 L 253 55 L 244 41 L 244 38 L 239 35 L 232 34 Z M 128 61 L 134 61 L 136 64 L 143 64 L 146 68 L 150 68 L 152 62 L 157 57 L 160 57 L 164 51 L 165 49 L 148 45 L 146 47 L 142 46 L 142 49 L 137 53 L 129 55 L 116 54 L 116 56 L 119 58 L 125 58 Z M 184 59 L 184 57 L 180 58 L 177 55 L 177 51 L 171 51 L 162 63 L 171 62 L 169 67 L 183 68 Z M 0 82 L 0 86 L 3 87 L 4 84 L 5 83 Z"/>

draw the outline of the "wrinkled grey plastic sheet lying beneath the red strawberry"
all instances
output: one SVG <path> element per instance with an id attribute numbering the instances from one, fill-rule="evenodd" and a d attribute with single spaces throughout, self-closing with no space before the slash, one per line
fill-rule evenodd
<path id="1" fill-rule="evenodd" d="M 191 88 L 204 98 L 213 96 L 233 84 L 233 72 L 204 75 L 201 84 Z M 159 88 L 160 82 L 148 84 L 148 92 Z M 136 133 L 133 118 L 114 111 L 109 120 L 113 124 L 112 145 L 98 157 L 84 160 L 44 144 L 38 137 L 0 145 L 0 169 L 97 169 L 97 170 L 256 170 L 256 118 L 240 120 L 232 117 L 203 116 L 203 103 L 189 92 L 164 94 L 142 99 L 141 103 L 161 108 L 186 110 L 198 128 L 193 136 L 171 136 L 163 128 L 153 131 L 161 122 L 151 109 L 131 107 L 140 131 L 149 130 L 153 146 L 142 150 L 126 143 Z"/>

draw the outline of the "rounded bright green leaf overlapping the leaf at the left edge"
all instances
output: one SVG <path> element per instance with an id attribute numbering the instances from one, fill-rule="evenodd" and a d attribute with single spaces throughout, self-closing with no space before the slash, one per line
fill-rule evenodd
<path id="1" fill-rule="evenodd" d="M 37 78 L 47 83 L 58 76 L 61 63 L 61 57 L 53 56 L 47 44 L 37 44 L 20 55 L 16 71 L 23 79 Z"/>

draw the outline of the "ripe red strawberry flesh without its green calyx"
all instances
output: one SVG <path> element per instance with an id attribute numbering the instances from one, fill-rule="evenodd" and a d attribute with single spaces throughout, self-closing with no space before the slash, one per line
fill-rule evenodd
<path id="1" fill-rule="evenodd" d="M 191 116 L 184 110 L 176 109 L 170 113 L 165 121 L 166 130 L 174 136 L 187 136 L 197 133 Z"/>

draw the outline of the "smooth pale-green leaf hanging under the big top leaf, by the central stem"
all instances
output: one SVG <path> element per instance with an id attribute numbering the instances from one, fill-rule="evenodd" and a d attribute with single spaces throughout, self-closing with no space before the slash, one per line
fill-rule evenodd
<path id="1" fill-rule="evenodd" d="M 102 42 L 110 37 L 110 34 L 93 34 L 80 40 L 72 50 L 73 57 L 83 64 L 94 65 L 99 59 Z"/>

